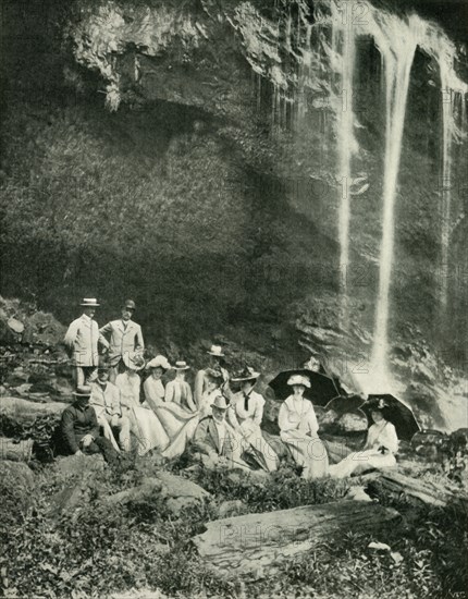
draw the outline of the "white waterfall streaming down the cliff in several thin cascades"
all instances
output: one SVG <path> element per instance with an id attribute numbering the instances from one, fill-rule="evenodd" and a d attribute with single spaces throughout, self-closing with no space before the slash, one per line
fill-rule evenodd
<path id="1" fill-rule="evenodd" d="M 263 69 L 283 95 L 290 94 L 297 107 L 296 119 L 304 119 L 305 95 L 325 90 L 329 106 L 334 113 L 336 136 L 336 180 L 340 182 L 338 225 L 340 273 L 343 314 L 346 323 L 346 307 L 349 289 L 346 272 L 349 271 L 349 224 L 352 215 L 352 160 L 358 151 L 354 136 L 357 119 L 353 111 L 352 99 L 356 97 L 354 72 L 357 64 L 356 44 L 359 37 L 372 38 L 381 54 L 383 90 L 385 96 L 386 126 L 382 175 L 382 237 L 379 253 L 379 288 L 375 306 L 373 346 L 368 377 L 368 391 L 391 387 L 389 375 L 389 318 L 391 315 L 392 269 L 394 260 L 394 207 L 398 192 L 398 171 L 404 138 L 406 105 L 410 85 L 411 65 L 419 48 L 429 54 L 439 70 L 442 94 L 442 164 L 441 164 L 441 252 L 439 272 L 440 304 L 447 305 L 447 279 L 449 261 L 449 237 L 452 231 L 452 171 L 453 142 L 465 134 L 465 124 L 456 125 L 457 113 L 466 114 L 465 96 L 468 86 L 461 82 L 454 70 L 456 49 L 447 36 L 436 25 L 416 14 L 402 17 L 385 10 L 377 9 L 367 0 L 358 3 L 359 11 L 353 14 L 353 7 L 336 0 L 317 0 L 311 19 L 306 0 L 297 0 L 297 26 L 291 20 L 291 2 L 281 4 L 287 12 L 286 42 L 276 37 L 278 53 L 271 52 L 273 60 L 269 69 Z M 286 11 L 287 9 L 287 11 Z M 296 30 L 294 30 L 296 29 Z M 261 38 L 271 38 L 270 28 L 264 27 Z M 306 35 L 303 35 L 306 32 Z M 312 41 L 311 41 L 311 38 Z M 294 39 L 294 44 L 293 44 Z M 287 61 L 282 60 L 282 50 L 290 54 L 291 63 L 297 69 L 293 72 L 284 69 Z M 248 50 L 248 48 L 247 48 Z M 258 48 L 254 47 L 249 56 L 255 69 L 261 63 Z M 268 61 L 267 61 L 268 62 Z M 288 71 L 288 72 L 287 72 Z M 281 75 L 280 75 L 281 73 Z M 455 110 L 459 101 L 460 110 Z M 275 100 L 275 107 L 278 100 Z M 276 111 L 274 111 L 275 113 Z M 357 181 L 360 181 L 359 179 Z M 373 182 L 373 188 L 377 188 Z M 435 209 L 435 207 L 434 207 Z M 344 274 L 344 277 L 343 277 Z M 380 389 L 375 389 L 375 384 Z"/>

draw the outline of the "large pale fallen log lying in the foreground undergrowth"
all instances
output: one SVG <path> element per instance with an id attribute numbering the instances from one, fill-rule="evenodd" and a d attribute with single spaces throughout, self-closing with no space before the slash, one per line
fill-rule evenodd
<path id="1" fill-rule="evenodd" d="M 258 578 L 334 533 L 373 533 L 398 518 L 393 509 L 345 500 L 208 522 L 193 542 L 207 565 L 224 574 Z"/>

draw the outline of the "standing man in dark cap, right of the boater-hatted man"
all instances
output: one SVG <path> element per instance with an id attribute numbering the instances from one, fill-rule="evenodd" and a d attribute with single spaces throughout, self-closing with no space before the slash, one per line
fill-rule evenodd
<path id="1" fill-rule="evenodd" d="M 121 369 L 124 355 L 141 354 L 145 350 L 143 341 L 141 327 L 132 320 L 135 311 L 135 302 L 127 300 L 122 306 L 122 318 L 111 320 L 99 332 L 102 335 L 110 335 L 109 364 L 111 366 L 109 380 L 115 382 L 115 378 Z"/>

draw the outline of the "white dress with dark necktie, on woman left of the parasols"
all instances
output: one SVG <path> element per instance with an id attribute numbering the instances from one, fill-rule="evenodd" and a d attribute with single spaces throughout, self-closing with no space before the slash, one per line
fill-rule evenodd
<path id="1" fill-rule="evenodd" d="M 256 391 L 248 393 L 247 409 L 246 396 L 241 391 L 231 398 L 227 409 L 227 420 L 243 439 L 244 450 L 251 452 L 268 472 L 278 468 L 279 459 L 273 448 L 267 443 L 261 433 L 260 424 L 263 417 L 264 400 Z"/>

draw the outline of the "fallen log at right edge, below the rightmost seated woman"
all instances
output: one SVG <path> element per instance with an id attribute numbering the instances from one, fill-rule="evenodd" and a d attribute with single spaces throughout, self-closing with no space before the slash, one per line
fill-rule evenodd
<path id="1" fill-rule="evenodd" d="M 371 481 L 378 481 L 386 491 L 397 494 L 398 498 L 407 497 L 436 508 L 444 508 L 448 503 L 461 503 L 468 506 L 468 498 L 457 488 L 438 482 L 428 482 L 405 476 L 396 472 L 377 472 L 365 475 Z"/>

